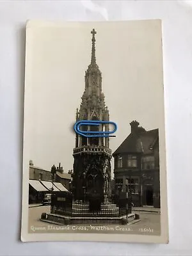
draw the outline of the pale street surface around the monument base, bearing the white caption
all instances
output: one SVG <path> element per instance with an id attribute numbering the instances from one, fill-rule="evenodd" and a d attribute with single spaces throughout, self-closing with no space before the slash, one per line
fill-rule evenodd
<path id="1" fill-rule="evenodd" d="M 55 225 L 40 220 L 42 212 L 50 212 L 50 205 L 29 207 L 30 233 L 88 232 L 115 234 L 160 235 L 160 214 L 157 212 L 135 211 L 140 214 L 140 221 L 128 225 Z M 134 211 L 132 211 L 134 212 Z"/>

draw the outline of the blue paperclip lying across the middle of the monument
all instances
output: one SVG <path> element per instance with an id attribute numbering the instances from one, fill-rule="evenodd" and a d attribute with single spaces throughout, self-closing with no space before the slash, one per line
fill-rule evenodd
<path id="1" fill-rule="evenodd" d="M 112 124 L 114 125 L 113 131 L 81 131 L 80 126 L 81 125 L 100 125 L 100 124 Z M 76 122 L 74 125 L 74 131 L 86 138 L 92 138 L 92 137 L 115 137 L 115 136 L 109 136 L 109 134 L 116 132 L 117 130 L 117 125 L 115 122 L 111 121 L 99 121 L 99 120 L 81 120 Z"/>

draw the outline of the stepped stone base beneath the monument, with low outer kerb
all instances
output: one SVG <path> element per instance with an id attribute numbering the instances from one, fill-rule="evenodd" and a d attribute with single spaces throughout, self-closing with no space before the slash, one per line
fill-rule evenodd
<path id="1" fill-rule="evenodd" d="M 89 206 L 73 202 L 71 212 L 51 209 L 51 212 L 43 212 L 40 220 L 58 225 L 125 225 L 140 221 L 138 214 L 129 212 L 126 216 L 115 204 L 102 204 L 99 211 L 90 211 Z"/>

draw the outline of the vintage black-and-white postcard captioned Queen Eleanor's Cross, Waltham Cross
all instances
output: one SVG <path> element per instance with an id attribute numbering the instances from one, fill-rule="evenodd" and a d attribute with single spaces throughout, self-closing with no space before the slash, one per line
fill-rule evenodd
<path id="1" fill-rule="evenodd" d="M 168 243 L 161 20 L 26 26 L 22 241 Z"/>

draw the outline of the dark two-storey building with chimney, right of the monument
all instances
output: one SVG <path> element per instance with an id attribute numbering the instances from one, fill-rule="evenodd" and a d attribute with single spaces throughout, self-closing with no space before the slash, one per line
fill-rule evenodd
<path id="1" fill-rule="evenodd" d="M 131 134 L 115 150 L 115 193 L 129 191 L 135 206 L 160 207 L 159 130 L 145 131 L 132 121 Z"/>

